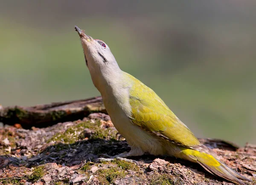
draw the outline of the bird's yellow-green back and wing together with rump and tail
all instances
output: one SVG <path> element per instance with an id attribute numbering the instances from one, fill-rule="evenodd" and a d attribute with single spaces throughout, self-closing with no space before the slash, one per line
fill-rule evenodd
<path id="1" fill-rule="evenodd" d="M 168 139 L 179 146 L 180 155 L 198 162 L 207 171 L 225 179 L 245 185 L 241 180 L 250 181 L 215 159 L 213 151 L 202 145 L 194 134 L 181 122 L 151 88 L 125 74 L 131 81 L 131 121 L 156 136 Z"/>

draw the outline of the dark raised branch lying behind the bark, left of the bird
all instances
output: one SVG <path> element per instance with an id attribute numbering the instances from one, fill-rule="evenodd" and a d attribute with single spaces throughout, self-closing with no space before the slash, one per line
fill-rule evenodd
<path id="1" fill-rule="evenodd" d="M 102 97 L 31 107 L 0 107 L 0 122 L 7 125 L 19 123 L 23 128 L 47 127 L 58 122 L 82 119 L 92 112 L 107 113 Z"/>

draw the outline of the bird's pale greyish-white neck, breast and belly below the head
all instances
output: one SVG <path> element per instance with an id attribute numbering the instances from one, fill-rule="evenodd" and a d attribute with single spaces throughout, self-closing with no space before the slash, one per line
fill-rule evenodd
<path id="1" fill-rule="evenodd" d="M 129 83 L 129 79 L 125 79 L 123 72 L 119 70 L 111 70 L 111 68 L 97 72 L 90 70 L 93 84 L 102 95 L 113 125 L 125 137 L 131 148 L 139 147 L 142 151 L 154 155 L 165 154 L 166 142 L 163 139 L 131 122 L 129 88 L 133 84 Z"/>

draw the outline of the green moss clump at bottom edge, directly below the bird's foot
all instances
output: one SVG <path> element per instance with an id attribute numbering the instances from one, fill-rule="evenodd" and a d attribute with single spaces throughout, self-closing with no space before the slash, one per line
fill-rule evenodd
<path id="1" fill-rule="evenodd" d="M 100 184 L 113 184 L 113 182 L 118 178 L 124 178 L 127 172 L 123 171 L 118 167 L 110 167 L 108 169 L 99 169 L 97 171 L 97 179 L 99 179 Z"/>

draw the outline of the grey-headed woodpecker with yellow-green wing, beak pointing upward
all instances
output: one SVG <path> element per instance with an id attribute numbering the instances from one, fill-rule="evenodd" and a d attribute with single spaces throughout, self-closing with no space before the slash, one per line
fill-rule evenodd
<path id="1" fill-rule="evenodd" d="M 93 84 L 113 125 L 131 147 L 113 158 L 173 156 L 196 162 L 209 173 L 239 185 L 245 185 L 241 180 L 252 182 L 217 159 L 151 88 L 122 71 L 105 42 L 93 39 L 77 26 L 75 29 Z"/>

